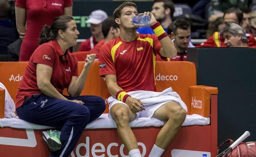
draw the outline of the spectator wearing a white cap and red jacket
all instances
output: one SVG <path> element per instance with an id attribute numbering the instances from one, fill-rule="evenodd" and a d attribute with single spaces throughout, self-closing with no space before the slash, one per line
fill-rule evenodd
<path id="1" fill-rule="evenodd" d="M 94 46 L 104 39 L 104 35 L 101 31 L 102 22 L 107 18 L 107 13 L 103 10 L 95 10 L 89 15 L 89 19 L 86 21 L 91 24 L 91 37 L 85 42 L 82 42 L 79 47 L 79 51 L 89 51 Z"/>

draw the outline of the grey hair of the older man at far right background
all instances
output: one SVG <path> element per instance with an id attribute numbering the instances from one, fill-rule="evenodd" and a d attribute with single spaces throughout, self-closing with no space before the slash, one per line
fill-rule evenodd
<path id="1" fill-rule="evenodd" d="M 220 31 L 220 35 L 223 36 L 224 33 L 231 33 L 234 36 L 241 35 L 242 42 L 248 42 L 245 30 L 239 24 L 233 22 L 225 24 L 225 27 Z"/>

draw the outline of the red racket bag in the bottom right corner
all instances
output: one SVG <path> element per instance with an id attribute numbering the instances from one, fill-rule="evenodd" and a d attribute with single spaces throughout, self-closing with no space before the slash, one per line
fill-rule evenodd
<path id="1" fill-rule="evenodd" d="M 227 139 L 224 143 L 233 144 L 232 139 Z M 217 152 L 219 152 L 219 148 L 222 146 L 220 144 L 217 148 Z M 227 157 L 256 157 L 256 142 L 241 142 L 236 146 L 231 152 L 227 155 Z"/>

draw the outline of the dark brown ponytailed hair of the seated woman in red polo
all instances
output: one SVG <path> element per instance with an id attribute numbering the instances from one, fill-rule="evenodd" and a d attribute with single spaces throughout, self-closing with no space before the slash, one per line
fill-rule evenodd
<path id="1" fill-rule="evenodd" d="M 39 38 L 39 45 L 49 42 L 51 40 L 56 40 L 59 30 L 66 31 L 68 28 L 67 23 L 71 20 L 74 20 L 71 16 L 62 15 L 58 16 L 53 20 L 53 23 L 51 26 L 48 26 L 47 24 L 44 25 L 41 35 Z"/>

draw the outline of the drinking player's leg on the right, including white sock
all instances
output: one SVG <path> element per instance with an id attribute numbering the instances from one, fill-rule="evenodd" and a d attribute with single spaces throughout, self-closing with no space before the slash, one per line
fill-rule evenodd
<path id="1" fill-rule="evenodd" d="M 152 149 L 149 155 L 149 157 L 160 157 L 181 128 L 186 118 L 186 111 L 176 102 L 167 102 L 155 111 L 153 117 L 166 121 L 166 124 L 157 135 L 153 146 L 154 150 Z"/>

